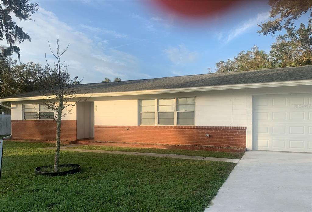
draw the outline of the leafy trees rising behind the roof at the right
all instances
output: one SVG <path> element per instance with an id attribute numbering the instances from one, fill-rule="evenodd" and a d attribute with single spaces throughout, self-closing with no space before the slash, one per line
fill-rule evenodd
<path id="1" fill-rule="evenodd" d="M 243 71 L 259 68 L 312 65 L 312 1 L 269 1 L 270 17 L 274 20 L 262 23 L 258 32 L 275 35 L 284 29 L 284 35 L 276 36 L 270 54 L 259 51 L 254 46 L 251 51 L 241 51 L 234 59 L 216 64 L 217 72 Z M 307 26 L 294 22 L 307 12 L 311 12 Z"/>

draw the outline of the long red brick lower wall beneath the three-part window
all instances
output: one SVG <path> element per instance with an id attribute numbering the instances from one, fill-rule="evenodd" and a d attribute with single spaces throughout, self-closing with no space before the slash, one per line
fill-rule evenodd
<path id="1" fill-rule="evenodd" d="M 95 142 L 246 148 L 246 127 L 95 126 L 94 139 Z"/>

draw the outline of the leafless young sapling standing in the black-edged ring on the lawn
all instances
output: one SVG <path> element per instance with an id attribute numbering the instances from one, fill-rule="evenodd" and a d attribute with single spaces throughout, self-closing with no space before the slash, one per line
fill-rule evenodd
<path id="1" fill-rule="evenodd" d="M 71 79 L 67 72 L 68 65 L 64 65 L 65 61 L 61 61 L 61 56 L 66 52 L 69 44 L 64 51 L 61 51 L 57 36 L 56 51 L 52 51 L 50 42 L 49 47 L 55 61 L 53 66 L 50 66 L 46 58 L 46 71 L 39 78 L 43 87 L 40 92 L 44 101 L 41 108 L 39 108 L 37 116 L 39 116 L 39 119 L 53 119 L 56 122 L 56 149 L 53 171 L 57 172 L 60 160 L 61 119 L 71 114 L 72 108 L 78 102 L 86 101 L 88 98 L 83 98 L 87 92 L 81 93 L 79 90 L 79 84 L 82 79 L 78 79 L 78 76 Z"/>

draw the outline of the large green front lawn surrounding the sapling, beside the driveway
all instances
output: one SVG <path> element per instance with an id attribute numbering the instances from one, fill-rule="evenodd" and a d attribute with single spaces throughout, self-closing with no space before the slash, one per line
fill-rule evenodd
<path id="1" fill-rule="evenodd" d="M 79 163 L 66 176 L 38 176 L 52 165 L 50 143 L 4 142 L 1 211 L 202 211 L 234 163 L 89 152 L 61 152 Z"/>

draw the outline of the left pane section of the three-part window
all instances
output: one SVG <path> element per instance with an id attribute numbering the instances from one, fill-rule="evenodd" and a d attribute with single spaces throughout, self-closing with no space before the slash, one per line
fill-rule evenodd
<path id="1" fill-rule="evenodd" d="M 155 125 L 155 100 L 140 100 L 140 124 Z"/>

